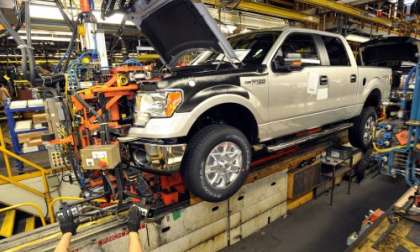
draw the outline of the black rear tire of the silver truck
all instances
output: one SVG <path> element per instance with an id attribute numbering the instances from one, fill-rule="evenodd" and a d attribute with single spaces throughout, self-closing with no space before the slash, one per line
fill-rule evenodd
<path id="1" fill-rule="evenodd" d="M 353 120 L 353 127 L 349 129 L 349 141 L 354 147 L 360 148 L 363 151 L 367 151 L 372 147 L 372 137 L 367 140 L 364 137 L 365 133 L 369 131 L 366 127 L 369 118 L 373 118 L 376 126 L 377 114 L 374 107 L 365 107 L 362 110 L 362 114 Z M 369 132 L 372 134 L 372 132 Z"/>

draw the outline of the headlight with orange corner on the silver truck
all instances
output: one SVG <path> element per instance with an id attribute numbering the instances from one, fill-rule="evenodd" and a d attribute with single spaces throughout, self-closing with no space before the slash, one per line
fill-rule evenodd
<path id="1" fill-rule="evenodd" d="M 181 105 L 182 90 L 138 92 L 136 96 L 136 117 L 171 117 Z"/>

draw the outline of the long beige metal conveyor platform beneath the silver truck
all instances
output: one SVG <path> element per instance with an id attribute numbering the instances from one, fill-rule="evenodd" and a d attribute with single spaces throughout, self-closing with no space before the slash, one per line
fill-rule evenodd
<path id="1" fill-rule="evenodd" d="M 347 131 L 342 131 L 258 157 L 246 184 L 229 200 L 209 203 L 191 196 L 186 207 L 148 220 L 140 231 L 144 251 L 217 251 L 257 232 L 286 216 L 287 171 L 346 142 Z M 121 212 L 81 225 L 72 240 L 72 249 L 126 251 L 125 215 Z M 1 240 L 0 251 L 52 251 L 60 237 L 57 224 L 52 224 Z"/>

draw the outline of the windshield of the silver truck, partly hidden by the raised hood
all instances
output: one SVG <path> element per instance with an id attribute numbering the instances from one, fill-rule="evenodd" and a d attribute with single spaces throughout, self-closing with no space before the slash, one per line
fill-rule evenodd
<path id="1" fill-rule="evenodd" d="M 228 40 L 235 50 L 237 58 L 243 64 L 260 65 L 280 33 L 280 31 L 245 33 L 230 37 Z M 196 52 L 189 52 L 185 56 L 187 58 L 184 58 L 184 60 L 187 59 L 188 61 L 188 58 L 192 60 L 188 63 L 184 61 L 183 66 L 218 64 L 225 61 L 223 54 L 209 50 L 197 50 Z"/>

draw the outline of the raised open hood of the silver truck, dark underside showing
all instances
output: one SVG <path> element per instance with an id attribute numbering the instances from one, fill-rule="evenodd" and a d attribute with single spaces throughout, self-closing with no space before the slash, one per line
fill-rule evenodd
<path id="1" fill-rule="evenodd" d="M 221 52 L 228 61 L 236 60 L 232 46 L 202 3 L 138 0 L 132 19 L 169 66 L 183 52 L 199 48 Z"/>

